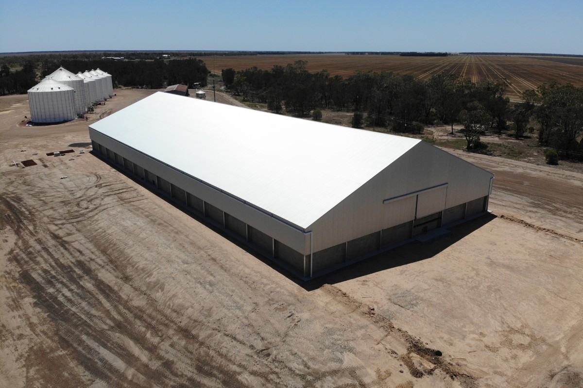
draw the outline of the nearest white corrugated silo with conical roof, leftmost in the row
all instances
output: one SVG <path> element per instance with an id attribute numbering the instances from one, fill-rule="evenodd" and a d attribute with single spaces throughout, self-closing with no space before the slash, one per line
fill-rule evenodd
<path id="1" fill-rule="evenodd" d="M 28 90 L 30 115 L 35 123 L 59 123 L 77 118 L 75 90 L 45 78 Z"/>

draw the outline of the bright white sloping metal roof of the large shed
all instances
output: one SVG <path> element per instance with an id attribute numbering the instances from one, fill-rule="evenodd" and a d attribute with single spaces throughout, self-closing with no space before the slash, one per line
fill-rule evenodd
<path id="1" fill-rule="evenodd" d="M 302 228 L 420 142 L 164 92 L 90 127 Z"/>

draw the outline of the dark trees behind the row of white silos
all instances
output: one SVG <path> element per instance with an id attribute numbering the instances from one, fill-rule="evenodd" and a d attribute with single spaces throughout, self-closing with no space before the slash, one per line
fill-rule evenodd
<path id="1" fill-rule="evenodd" d="M 56 58 L 55 58 L 56 57 Z M 38 62 L 24 60 L 22 69 L 12 71 L 8 63 L 0 66 L 0 95 L 24 94 L 31 87 L 58 69 L 65 67 L 73 73 L 99 67 L 111 74 L 114 87 L 144 87 L 159 89 L 164 85 L 195 84 L 206 86 L 209 71 L 200 59 L 170 60 L 111 60 L 85 58 L 58 58 L 45 56 Z"/>

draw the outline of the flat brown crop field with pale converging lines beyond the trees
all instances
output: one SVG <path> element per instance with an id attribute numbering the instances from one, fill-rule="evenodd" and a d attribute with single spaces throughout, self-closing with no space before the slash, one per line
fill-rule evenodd
<path id="1" fill-rule="evenodd" d="M 332 75 L 343 77 L 357 72 L 397 72 L 427 79 L 447 72 L 468 77 L 473 82 L 484 79 L 504 80 L 507 95 L 519 100 L 522 91 L 535 89 L 546 81 L 570 82 L 583 86 L 583 59 L 542 56 L 452 55 L 447 57 L 396 55 L 249 55 L 216 56 L 204 59 L 209 69 L 217 73 L 232 67 L 244 70 L 252 66 L 269 70 L 273 65 L 285 66 L 296 60 L 306 60 L 310 72 L 326 69 Z M 213 60 L 215 61 L 213 65 Z"/>

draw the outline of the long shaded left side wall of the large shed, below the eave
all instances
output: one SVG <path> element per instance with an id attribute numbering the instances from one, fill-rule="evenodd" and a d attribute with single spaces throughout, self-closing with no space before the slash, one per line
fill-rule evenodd
<path id="1" fill-rule="evenodd" d="M 278 220 L 242 200 L 222 193 L 177 169 L 89 128 L 93 150 L 153 184 L 192 211 L 259 248 L 268 257 L 280 259 L 302 276 L 308 276 L 305 255 L 310 254 L 310 234 Z"/>

